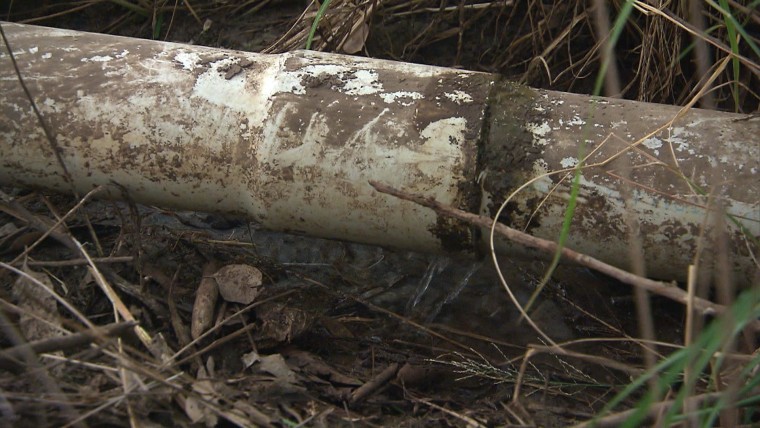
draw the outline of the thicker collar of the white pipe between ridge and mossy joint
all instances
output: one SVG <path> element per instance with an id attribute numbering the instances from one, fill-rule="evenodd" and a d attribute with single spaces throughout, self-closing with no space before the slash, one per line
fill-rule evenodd
<path id="1" fill-rule="evenodd" d="M 492 76 L 296 52 L 279 78 L 287 90 L 272 98 L 261 144 L 267 173 L 251 181 L 270 213 L 265 223 L 281 228 L 300 222 L 341 231 L 329 236 L 341 239 L 366 242 L 391 234 L 405 245 L 422 243 L 419 231 L 378 227 L 421 218 L 426 210 L 377 194 L 367 185 L 373 179 L 476 210 L 473 178 Z M 316 179 L 321 186 L 313 185 Z M 303 203 L 284 209 L 283 197 L 296 196 Z M 359 219 L 360 213 L 385 219 Z M 356 228 L 362 221 L 366 227 Z M 470 227 L 461 222 L 437 216 L 420 226 L 442 250 L 474 247 Z"/>

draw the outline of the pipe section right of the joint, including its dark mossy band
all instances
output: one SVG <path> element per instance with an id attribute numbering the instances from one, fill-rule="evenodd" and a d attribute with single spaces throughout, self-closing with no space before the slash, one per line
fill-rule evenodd
<path id="1" fill-rule="evenodd" d="M 760 118 L 691 109 L 673 120 L 679 107 L 496 86 L 483 214 L 494 216 L 493 201 L 541 177 L 507 204 L 500 220 L 556 240 L 573 171 L 545 174 L 575 167 L 585 153 L 568 247 L 631 268 L 635 224 L 648 273 L 683 280 L 700 240 L 707 255 L 701 263 L 714 262 L 717 216 L 726 223 L 734 279 L 747 284 L 757 275 Z"/>

